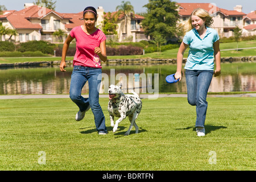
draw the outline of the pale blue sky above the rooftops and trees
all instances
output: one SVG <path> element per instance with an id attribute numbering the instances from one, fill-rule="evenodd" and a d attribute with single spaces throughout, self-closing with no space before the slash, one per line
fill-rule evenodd
<path id="1" fill-rule="evenodd" d="M 87 6 L 93 6 L 97 9 L 102 6 L 105 12 L 115 11 L 115 8 L 121 5 L 123 0 L 53 0 L 56 1 L 56 11 L 59 13 L 79 13 Z M 143 7 L 148 3 L 148 0 L 125 0 L 130 1 L 134 7 L 135 13 L 146 13 L 146 8 Z M 0 0 L 0 5 L 5 5 L 7 10 L 22 10 L 24 3 L 32 3 L 35 0 Z M 215 3 L 217 7 L 226 10 L 233 10 L 236 5 L 242 5 L 243 13 L 250 13 L 256 10 L 255 0 L 176 0 L 178 3 Z"/>

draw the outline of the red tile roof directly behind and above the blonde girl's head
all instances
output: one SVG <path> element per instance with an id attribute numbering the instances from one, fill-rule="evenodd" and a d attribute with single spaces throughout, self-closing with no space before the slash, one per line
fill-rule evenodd
<path id="1" fill-rule="evenodd" d="M 210 13 L 217 13 L 220 12 L 222 14 L 224 14 L 225 16 L 229 16 L 229 15 L 246 15 L 245 13 L 242 12 L 238 12 L 236 10 L 225 10 L 225 9 L 221 9 L 217 6 L 214 6 L 211 3 L 177 3 L 180 8 L 179 8 L 179 15 L 181 16 L 190 16 L 191 13 L 193 12 L 193 10 L 197 9 L 197 8 L 201 8 L 204 10 L 207 10 Z"/>

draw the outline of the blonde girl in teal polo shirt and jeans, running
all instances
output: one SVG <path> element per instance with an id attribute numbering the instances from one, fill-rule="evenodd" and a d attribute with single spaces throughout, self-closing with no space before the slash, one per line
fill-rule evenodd
<path id="1" fill-rule="evenodd" d="M 212 17 L 204 9 L 196 9 L 191 17 L 181 22 L 185 36 L 177 53 L 177 71 L 175 78 L 181 81 L 182 61 L 185 50 L 189 46 L 189 55 L 185 64 L 185 77 L 187 82 L 188 103 L 196 106 L 196 132 L 197 136 L 205 136 L 205 118 L 207 114 L 207 93 L 213 75 L 221 74 L 220 37 L 210 28 Z M 216 70 L 214 71 L 214 58 Z"/>

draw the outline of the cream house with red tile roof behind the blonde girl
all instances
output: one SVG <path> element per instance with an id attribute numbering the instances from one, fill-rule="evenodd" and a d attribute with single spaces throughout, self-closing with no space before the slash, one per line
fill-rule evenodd
<path id="1" fill-rule="evenodd" d="M 230 36 L 233 36 L 234 28 L 238 26 L 239 28 L 243 29 L 245 26 L 245 23 L 243 22 L 246 22 L 246 20 L 247 23 L 249 23 L 251 19 L 254 19 L 255 23 L 255 17 L 253 15 L 246 16 L 246 14 L 242 12 L 241 5 L 237 5 L 236 7 L 234 7 L 234 10 L 221 9 L 220 7 L 214 5 L 214 3 L 177 3 L 177 5 L 177 11 L 179 11 L 180 21 L 189 18 L 192 11 L 197 8 L 207 10 L 213 16 L 213 28 L 218 32 L 221 37 L 228 38 Z M 250 24 L 253 24 L 253 20 L 251 20 Z M 251 27 L 249 26 L 246 28 Z"/>

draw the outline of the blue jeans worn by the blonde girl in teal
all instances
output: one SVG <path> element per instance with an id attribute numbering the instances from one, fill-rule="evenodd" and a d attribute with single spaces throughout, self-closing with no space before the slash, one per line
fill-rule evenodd
<path id="1" fill-rule="evenodd" d="M 207 114 L 207 93 L 212 81 L 213 71 L 186 70 L 185 71 L 188 103 L 196 106 L 196 126 L 204 127 Z"/>

